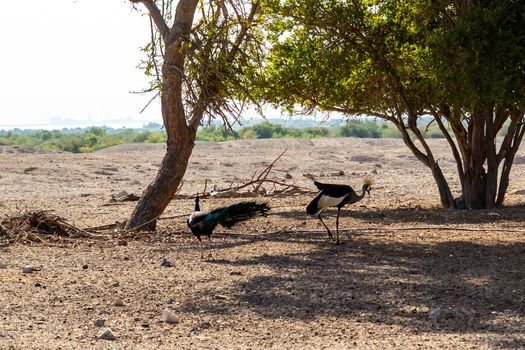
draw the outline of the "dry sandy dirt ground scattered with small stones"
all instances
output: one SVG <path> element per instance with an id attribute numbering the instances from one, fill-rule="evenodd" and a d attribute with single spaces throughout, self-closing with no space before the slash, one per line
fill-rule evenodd
<path id="1" fill-rule="evenodd" d="M 446 144 L 431 146 L 457 184 Z M 304 212 L 312 195 L 258 198 L 271 215 L 219 228 L 207 262 L 185 224 L 191 199 L 172 201 L 141 237 L 0 237 L 0 349 L 525 348 L 523 147 L 495 210 L 439 208 L 428 169 L 388 139 L 197 143 L 179 193 L 202 191 L 205 179 L 208 189 L 244 183 L 284 149 L 270 178 L 312 190 L 303 174 L 357 189 L 375 179 L 370 197 L 342 211 L 343 244 Z M 111 195 L 140 194 L 163 154 L 0 148 L 0 219 L 48 210 L 78 228 L 125 220 L 135 202 Z M 165 309 L 177 322 L 163 321 Z M 97 338 L 106 328 L 116 340 Z"/>

